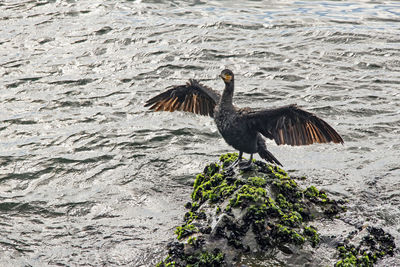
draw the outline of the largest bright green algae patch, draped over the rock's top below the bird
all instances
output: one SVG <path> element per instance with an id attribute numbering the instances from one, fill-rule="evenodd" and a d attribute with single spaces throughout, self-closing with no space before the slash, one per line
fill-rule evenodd
<path id="1" fill-rule="evenodd" d="M 266 164 L 256 170 L 262 175 L 249 176 L 245 181 L 232 179 L 225 175 L 224 168 L 236 158 L 236 153 L 222 155 L 220 165 L 210 164 L 202 174 L 197 175 L 192 199 L 198 203 L 207 200 L 210 203 L 222 203 L 229 199 L 225 210 L 221 211 L 218 206 L 216 213 L 230 212 L 232 208 L 247 209 L 246 218 L 253 220 L 255 228 L 262 229 L 269 224 L 269 228 L 275 229 L 272 239 L 276 240 L 272 240 L 272 243 L 301 245 L 310 242 L 313 247 L 317 246 L 319 235 L 316 229 L 306 224 L 314 217 L 309 213 L 308 201 L 332 204 L 326 194 L 314 186 L 302 190 L 283 169 Z M 270 184 L 271 192 L 266 190 L 267 184 Z M 337 214 L 339 211 L 331 212 Z M 259 239 L 265 240 L 266 236 Z"/>

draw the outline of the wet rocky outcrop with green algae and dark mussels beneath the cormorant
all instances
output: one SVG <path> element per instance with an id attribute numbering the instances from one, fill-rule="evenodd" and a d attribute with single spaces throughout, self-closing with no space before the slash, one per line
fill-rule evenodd
<path id="1" fill-rule="evenodd" d="M 197 175 L 178 241 L 158 266 L 372 266 L 393 255 L 382 229 L 340 220 L 342 202 L 260 161 L 228 171 L 236 158 L 222 155 Z"/>

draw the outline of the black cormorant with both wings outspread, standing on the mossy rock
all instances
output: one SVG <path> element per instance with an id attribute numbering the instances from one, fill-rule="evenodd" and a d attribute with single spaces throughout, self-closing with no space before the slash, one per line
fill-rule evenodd
<path id="1" fill-rule="evenodd" d="M 250 154 L 246 165 L 250 165 L 253 154 L 258 153 L 264 160 L 282 166 L 267 150 L 261 135 L 275 140 L 278 145 L 343 144 L 342 137 L 328 123 L 296 105 L 261 110 L 235 107 L 232 103 L 233 72 L 225 69 L 220 77 L 225 83 L 222 96 L 191 79 L 186 85 L 168 87 L 165 92 L 147 100 L 145 107 L 150 106 L 155 111 L 182 110 L 213 117 L 225 141 L 239 150 L 239 157 L 232 167 L 240 162 L 243 152 Z"/>

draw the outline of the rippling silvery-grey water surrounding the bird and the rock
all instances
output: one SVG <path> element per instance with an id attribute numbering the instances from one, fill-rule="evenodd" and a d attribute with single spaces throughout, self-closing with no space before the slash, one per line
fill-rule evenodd
<path id="1" fill-rule="evenodd" d="M 162 259 L 194 176 L 233 149 L 211 118 L 143 104 L 189 78 L 221 90 L 224 68 L 236 105 L 297 103 L 343 136 L 267 145 L 399 246 L 398 1 L 20 0 L 0 2 L 1 266 Z"/>

